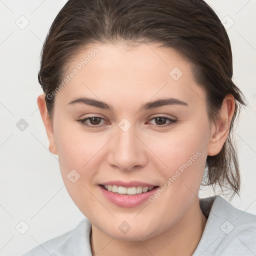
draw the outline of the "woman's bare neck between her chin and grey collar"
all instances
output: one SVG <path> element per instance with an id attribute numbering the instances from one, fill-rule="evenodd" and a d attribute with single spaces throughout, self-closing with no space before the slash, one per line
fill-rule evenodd
<path id="1" fill-rule="evenodd" d="M 175 226 L 143 241 L 112 238 L 92 225 L 92 255 L 112 256 L 114 251 L 114 254 L 122 256 L 191 256 L 200 241 L 206 221 L 197 199 Z"/>

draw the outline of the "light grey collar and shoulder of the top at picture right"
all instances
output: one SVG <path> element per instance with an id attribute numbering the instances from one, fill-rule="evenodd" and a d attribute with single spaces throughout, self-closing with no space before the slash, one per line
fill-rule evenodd
<path id="1" fill-rule="evenodd" d="M 207 204 L 210 200 L 213 203 Z M 203 204 L 210 205 L 209 215 L 193 256 L 256 253 L 256 215 L 237 209 L 221 196 L 205 198 Z"/>

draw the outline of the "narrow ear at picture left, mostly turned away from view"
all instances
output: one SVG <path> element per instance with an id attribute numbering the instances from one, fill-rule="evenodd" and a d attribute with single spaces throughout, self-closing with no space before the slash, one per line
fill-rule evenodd
<path id="1" fill-rule="evenodd" d="M 47 112 L 44 94 L 39 95 L 37 97 L 37 105 L 39 107 L 41 118 L 42 118 L 43 124 L 45 126 L 47 137 L 49 140 L 49 150 L 53 154 L 57 154 L 57 149 L 56 149 L 55 139 L 54 139 L 54 134 L 53 134 L 53 126 L 52 126 L 49 114 Z"/>

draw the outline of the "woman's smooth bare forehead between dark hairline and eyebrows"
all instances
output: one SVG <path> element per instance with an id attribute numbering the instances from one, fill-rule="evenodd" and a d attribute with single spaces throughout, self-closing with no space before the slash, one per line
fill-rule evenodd
<path id="1" fill-rule="evenodd" d="M 166 96 L 195 103 L 204 98 L 189 61 L 159 44 L 94 43 L 72 59 L 64 77 L 71 73 L 75 74 L 57 95 L 66 103 L 85 95 L 116 103 Z"/>

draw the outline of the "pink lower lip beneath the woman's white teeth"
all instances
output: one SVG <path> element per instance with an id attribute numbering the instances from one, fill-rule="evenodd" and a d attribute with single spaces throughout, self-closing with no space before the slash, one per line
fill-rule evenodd
<path id="1" fill-rule="evenodd" d="M 143 203 L 146 199 L 153 195 L 158 186 L 145 193 L 142 192 L 134 195 L 114 193 L 104 189 L 101 185 L 99 185 L 99 188 L 101 189 L 103 195 L 112 203 L 124 208 L 131 208 Z"/>

